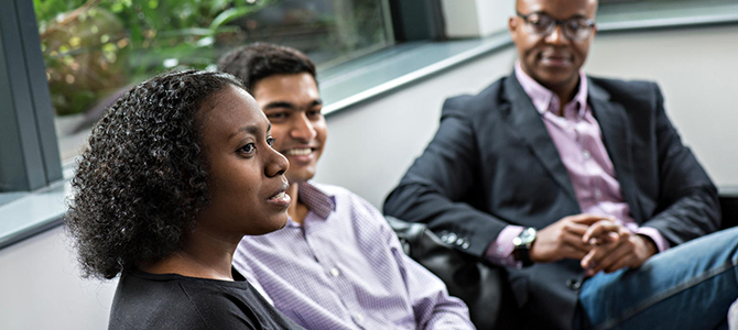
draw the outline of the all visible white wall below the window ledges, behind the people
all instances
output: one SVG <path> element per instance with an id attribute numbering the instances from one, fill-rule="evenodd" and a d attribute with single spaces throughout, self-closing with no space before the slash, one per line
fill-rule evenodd
<path id="1" fill-rule="evenodd" d="M 443 100 L 512 67 L 504 50 L 328 119 L 317 180 L 381 207 L 432 139 Z M 600 35 L 586 69 L 658 80 L 669 113 L 718 185 L 738 185 L 738 25 Z M 0 250 L 0 329 L 105 329 L 115 282 L 79 278 L 61 229 Z"/>

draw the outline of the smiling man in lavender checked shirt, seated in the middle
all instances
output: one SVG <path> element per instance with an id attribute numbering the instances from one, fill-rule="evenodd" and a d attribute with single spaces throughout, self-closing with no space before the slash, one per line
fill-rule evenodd
<path id="1" fill-rule="evenodd" d="M 234 266 L 307 329 L 474 329 L 464 302 L 404 255 L 379 210 L 311 180 L 327 138 L 314 64 L 292 48 L 253 44 L 218 68 L 245 82 L 290 161 L 286 227 L 245 238 Z"/>

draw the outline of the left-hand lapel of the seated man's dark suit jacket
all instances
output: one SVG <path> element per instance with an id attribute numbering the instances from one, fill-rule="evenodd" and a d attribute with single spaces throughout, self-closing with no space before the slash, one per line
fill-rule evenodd
<path id="1" fill-rule="evenodd" d="M 578 205 L 574 188 L 572 187 L 572 180 L 568 177 L 564 163 L 561 161 L 558 150 L 556 150 L 551 140 L 541 114 L 520 86 L 520 82 L 518 82 L 514 74 L 508 76 L 508 79 L 506 79 L 506 94 L 512 105 L 508 117 L 511 127 L 525 141 L 535 157 L 543 164 L 543 167 L 561 186 L 562 190 Z"/>

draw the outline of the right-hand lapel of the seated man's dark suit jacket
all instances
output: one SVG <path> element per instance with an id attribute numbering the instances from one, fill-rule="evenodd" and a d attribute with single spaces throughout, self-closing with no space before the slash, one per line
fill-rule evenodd
<path id="1" fill-rule="evenodd" d="M 638 186 L 630 152 L 632 150 L 632 136 L 626 110 L 621 105 L 610 102 L 609 94 L 595 85 L 592 79 L 588 82 L 589 92 L 587 98 L 603 132 L 603 142 L 610 161 L 612 161 L 615 175 L 620 184 L 620 191 L 630 206 L 633 219 L 641 223 L 643 217 L 638 202 Z"/>

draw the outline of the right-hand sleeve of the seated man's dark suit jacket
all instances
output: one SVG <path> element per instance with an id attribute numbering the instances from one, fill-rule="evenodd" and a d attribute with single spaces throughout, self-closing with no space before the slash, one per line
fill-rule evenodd
<path id="1" fill-rule="evenodd" d="M 659 196 L 654 216 L 642 226 L 652 227 L 674 246 L 709 234 L 720 226 L 717 189 L 666 117 L 663 97 L 655 90 L 655 147 Z M 636 160 L 638 162 L 638 160 Z"/>

